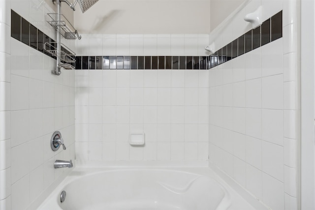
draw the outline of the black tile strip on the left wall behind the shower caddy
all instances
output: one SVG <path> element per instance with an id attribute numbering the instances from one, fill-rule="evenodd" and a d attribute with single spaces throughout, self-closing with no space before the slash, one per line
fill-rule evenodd
<path id="1" fill-rule="evenodd" d="M 54 39 L 34 27 L 14 10 L 11 10 L 11 37 L 53 59 L 56 59 L 56 57 L 47 52 L 44 47 L 45 42 L 55 42 Z M 68 55 L 71 54 L 63 47 L 61 51 Z"/>

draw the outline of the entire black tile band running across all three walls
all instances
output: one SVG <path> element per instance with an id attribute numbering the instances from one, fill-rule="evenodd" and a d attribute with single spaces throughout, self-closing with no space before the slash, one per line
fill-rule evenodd
<path id="1" fill-rule="evenodd" d="M 280 11 L 210 56 L 76 56 L 75 69 L 211 69 L 277 40 L 282 35 Z M 44 49 L 45 42 L 55 41 L 13 10 L 11 36 L 56 59 Z M 69 54 L 67 50 L 61 50 Z"/>

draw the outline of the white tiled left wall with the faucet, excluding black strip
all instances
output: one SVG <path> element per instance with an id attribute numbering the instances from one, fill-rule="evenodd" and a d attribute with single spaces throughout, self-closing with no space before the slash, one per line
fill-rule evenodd
<path id="1" fill-rule="evenodd" d="M 47 4 L 0 2 L 0 209 L 35 209 L 34 201 L 67 171 L 55 157 L 74 159 L 74 72 L 54 76 L 54 60 L 10 37 L 11 8 L 54 38 L 44 23 Z M 60 129 L 66 152 L 50 148 Z M 37 200 L 36 203 L 40 203 Z"/>

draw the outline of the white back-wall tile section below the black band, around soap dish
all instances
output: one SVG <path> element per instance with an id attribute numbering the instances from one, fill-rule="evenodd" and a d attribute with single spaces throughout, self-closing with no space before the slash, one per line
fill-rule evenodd
<path id="1" fill-rule="evenodd" d="M 204 149 L 204 144 L 208 146 L 208 88 L 198 79 L 204 71 L 103 70 L 96 73 L 99 77 L 100 72 L 103 87 L 106 84 L 102 89 L 95 88 L 95 83 L 101 86 L 94 81 L 98 80 L 95 70 L 76 70 L 76 147 L 80 161 L 208 159 L 208 149 Z M 84 84 L 83 88 L 82 75 L 93 87 Z M 119 82 L 122 80 L 130 85 Z M 89 103 L 84 102 L 87 99 Z M 144 132 L 148 144 L 131 147 L 130 132 Z M 95 142 L 101 145 L 96 147 Z M 88 155 L 89 150 L 81 143 L 88 144 L 95 154 Z"/>

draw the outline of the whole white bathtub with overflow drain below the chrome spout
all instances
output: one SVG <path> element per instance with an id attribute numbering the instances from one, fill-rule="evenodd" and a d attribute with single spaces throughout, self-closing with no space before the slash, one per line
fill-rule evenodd
<path id="1" fill-rule="evenodd" d="M 75 168 L 38 210 L 239 209 L 240 198 L 212 174 L 209 168 Z M 243 203 L 242 210 L 254 209 Z"/>

